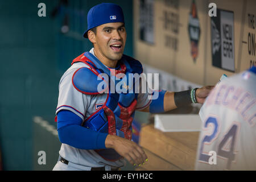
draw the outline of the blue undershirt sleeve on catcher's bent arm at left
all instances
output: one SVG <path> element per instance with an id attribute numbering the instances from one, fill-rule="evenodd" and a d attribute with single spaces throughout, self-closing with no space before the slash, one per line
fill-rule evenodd
<path id="1" fill-rule="evenodd" d="M 81 126 L 82 119 L 69 110 L 57 113 L 57 131 L 61 143 L 75 148 L 94 150 L 106 148 L 107 133 L 100 133 Z"/>

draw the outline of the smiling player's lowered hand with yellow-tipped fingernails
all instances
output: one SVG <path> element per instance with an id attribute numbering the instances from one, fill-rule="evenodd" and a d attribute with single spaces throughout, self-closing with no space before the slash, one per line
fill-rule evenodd
<path id="1" fill-rule="evenodd" d="M 133 165 L 143 164 L 147 159 L 147 155 L 141 146 L 125 138 L 108 135 L 105 140 L 105 146 L 106 148 L 113 148 Z"/>

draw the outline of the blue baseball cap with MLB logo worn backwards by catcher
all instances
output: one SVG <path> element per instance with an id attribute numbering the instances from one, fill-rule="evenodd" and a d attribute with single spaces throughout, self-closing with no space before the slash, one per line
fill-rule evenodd
<path id="1" fill-rule="evenodd" d="M 88 31 L 91 28 L 105 23 L 123 22 L 123 10 L 114 3 L 101 3 L 93 6 L 87 14 L 87 30 L 84 32 L 84 38 L 88 38 Z"/>

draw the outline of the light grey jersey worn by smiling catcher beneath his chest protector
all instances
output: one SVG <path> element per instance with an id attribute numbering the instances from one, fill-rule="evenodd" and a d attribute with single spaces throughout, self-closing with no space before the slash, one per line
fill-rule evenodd
<path id="1" fill-rule="evenodd" d="M 93 48 L 90 53 L 94 55 Z M 59 84 L 59 98 L 56 109 L 56 114 L 62 110 L 70 110 L 77 114 L 83 120 L 88 118 L 96 110 L 100 109 L 107 98 L 107 94 L 88 95 L 76 90 L 72 84 L 72 76 L 81 67 L 88 67 L 85 63 L 73 64 L 61 77 Z M 89 80 L 88 80 L 89 81 Z M 144 109 L 151 103 L 148 100 L 147 93 L 139 93 L 137 99 L 137 110 Z M 125 160 L 120 159 L 115 162 L 104 160 L 94 150 L 82 150 L 61 144 L 59 154 L 69 163 L 75 164 L 76 169 L 88 169 L 88 167 L 104 167 L 106 165 L 113 167 L 122 167 L 125 165 Z M 90 168 L 89 168 L 90 169 Z"/>

